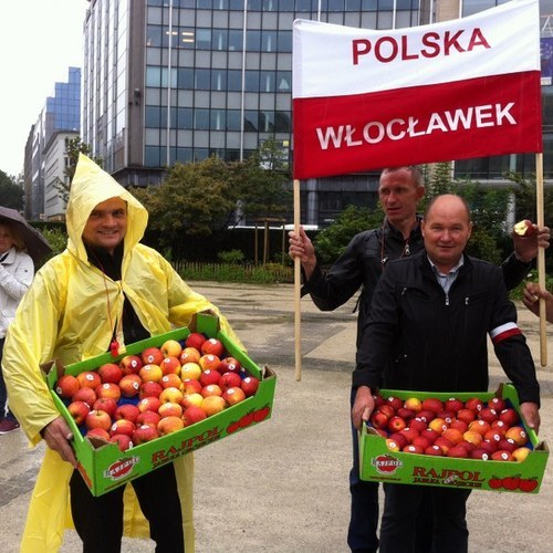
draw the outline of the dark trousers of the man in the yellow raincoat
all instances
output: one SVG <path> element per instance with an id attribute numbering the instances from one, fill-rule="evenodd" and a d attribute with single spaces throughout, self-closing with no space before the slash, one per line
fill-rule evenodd
<path id="1" fill-rule="evenodd" d="M 131 483 L 149 522 L 149 534 L 156 542 L 156 553 L 184 553 L 182 513 L 173 463 Z M 83 541 L 83 553 L 119 553 L 125 487 L 95 498 L 75 470 L 70 489 L 73 522 Z"/>

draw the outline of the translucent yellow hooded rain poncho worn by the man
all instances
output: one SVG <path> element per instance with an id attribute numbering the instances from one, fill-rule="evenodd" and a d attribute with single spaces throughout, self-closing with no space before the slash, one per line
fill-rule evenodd
<path id="1" fill-rule="evenodd" d="M 87 260 L 82 233 L 93 208 L 109 198 L 127 202 L 122 280 L 105 276 Z M 222 328 L 240 343 L 227 320 L 206 298 L 194 292 L 155 250 L 138 243 L 148 213 L 127 190 L 86 156 L 81 155 L 67 202 L 67 248 L 35 275 L 10 325 L 3 351 L 3 374 L 10 408 L 32 445 L 60 414 L 50 396 L 40 365 L 59 358 L 64 365 L 107 351 L 113 324 L 121 321 L 126 295 L 140 323 L 153 335 L 187 326 L 192 314 L 207 309 Z M 109 313 L 111 311 L 111 313 Z M 124 352 L 121 325 L 117 340 Z M 187 553 L 194 552 L 194 457 L 174 461 L 182 508 Z M 23 553 L 59 551 L 65 528 L 72 526 L 69 481 L 73 468 L 46 448 L 31 498 L 21 543 Z M 149 538 L 133 487 L 125 490 L 124 534 Z"/>

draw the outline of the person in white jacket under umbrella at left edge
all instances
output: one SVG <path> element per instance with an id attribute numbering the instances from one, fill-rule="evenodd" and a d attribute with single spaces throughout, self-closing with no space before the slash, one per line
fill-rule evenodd
<path id="1" fill-rule="evenodd" d="M 7 219 L 0 219 L 0 435 L 19 428 L 19 422 L 8 405 L 1 362 L 8 326 L 33 280 L 33 260 L 24 249 L 15 226 Z"/>

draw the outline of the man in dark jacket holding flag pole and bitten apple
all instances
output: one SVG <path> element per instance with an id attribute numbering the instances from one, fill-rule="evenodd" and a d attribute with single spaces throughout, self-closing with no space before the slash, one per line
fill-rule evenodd
<path id="1" fill-rule="evenodd" d="M 289 253 L 300 258 L 303 280 L 302 295 L 310 294 L 321 311 L 334 311 L 347 302 L 359 289 L 357 303 L 357 347 L 365 326 L 375 286 L 387 263 L 422 250 L 420 219 L 417 205 L 425 195 L 424 177 L 418 166 L 392 167 L 382 171 L 378 197 L 384 209 L 380 228 L 356 234 L 344 253 L 327 272 L 317 263 L 313 243 L 303 228 L 289 233 Z M 535 226 L 534 226 L 535 228 Z M 538 247 L 547 247 L 550 231 L 544 227 L 520 237 L 513 232 L 514 252 L 502 263 L 507 288 L 517 286 L 528 274 Z M 352 390 L 351 405 L 354 393 Z M 378 547 L 378 483 L 359 479 L 357 430 L 352 426 L 353 468 L 349 473 L 352 494 L 347 544 L 353 552 L 376 552 Z M 417 540 L 425 542 L 424 536 Z M 422 545 L 422 550 L 425 545 Z"/>

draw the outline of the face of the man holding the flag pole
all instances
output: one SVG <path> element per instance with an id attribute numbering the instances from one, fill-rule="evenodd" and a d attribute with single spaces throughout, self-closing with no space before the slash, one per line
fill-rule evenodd
<path id="1" fill-rule="evenodd" d="M 380 177 L 378 196 L 388 221 L 395 227 L 415 219 L 425 187 L 417 186 L 408 169 L 386 171 Z"/>

